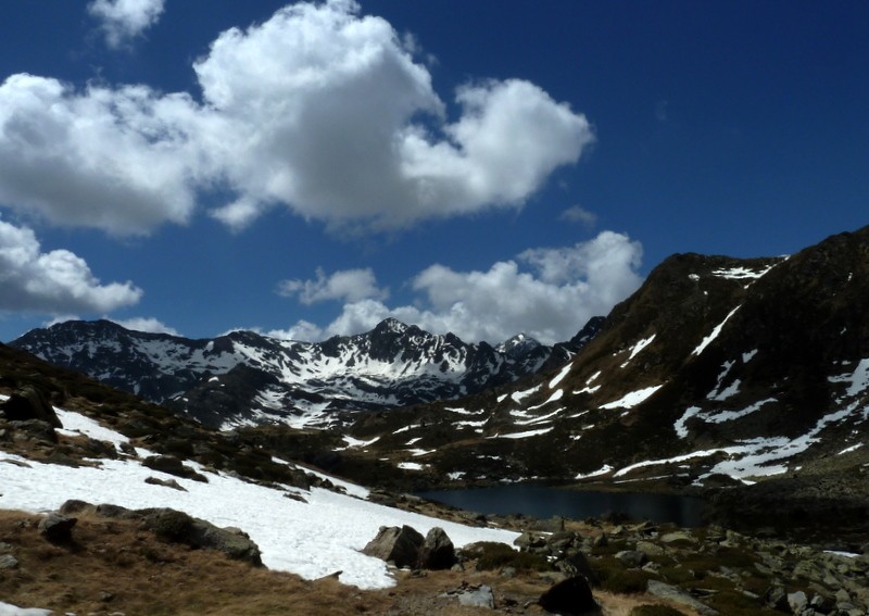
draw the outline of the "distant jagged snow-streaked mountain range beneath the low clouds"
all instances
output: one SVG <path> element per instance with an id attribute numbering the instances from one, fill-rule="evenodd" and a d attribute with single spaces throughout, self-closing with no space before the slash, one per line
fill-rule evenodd
<path id="1" fill-rule="evenodd" d="M 234 331 L 212 340 L 66 322 L 11 342 L 203 424 L 335 425 L 342 414 L 454 399 L 563 364 L 600 328 L 544 347 L 513 339 L 492 348 L 387 319 L 366 334 L 319 343 Z"/>

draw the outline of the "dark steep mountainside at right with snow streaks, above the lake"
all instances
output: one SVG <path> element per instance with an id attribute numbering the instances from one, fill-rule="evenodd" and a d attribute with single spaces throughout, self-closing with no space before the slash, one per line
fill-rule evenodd
<path id="1" fill-rule="evenodd" d="M 361 417 L 353 435 L 379 437 L 371 455 L 415 465 L 423 482 L 847 470 L 856 483 L 869 463 L 867 314 L 869 227 L 789 259 L 679 254 L 563 368 Z"/>

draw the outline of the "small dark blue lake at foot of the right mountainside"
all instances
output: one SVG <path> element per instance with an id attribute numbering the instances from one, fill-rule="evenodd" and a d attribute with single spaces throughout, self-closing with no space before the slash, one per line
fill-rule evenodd
<path id="1" fill-rule="evenodd" d="M 522 514 L 537 518 L 574 519 L 625 514 L 631 519 L 703 525 L 704 502 L 693 496 L 562 490 L 536 483 L 509 483 L 491 488 L 433 490 L 418 496 L 487 515 Z"/>

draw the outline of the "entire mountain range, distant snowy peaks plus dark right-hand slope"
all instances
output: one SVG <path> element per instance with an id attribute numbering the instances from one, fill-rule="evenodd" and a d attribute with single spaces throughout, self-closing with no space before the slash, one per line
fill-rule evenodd
<path id="1" fill-rule="evenodd" d="M 394 319 L 320 343 L 70 322 L 12 344 L 210 426 L 331 427 L 344 442 L 320 454 L 363 482 L 683 489 L 847 473 L 829 486 L 848 496 L 869 467 L 867 314 L 869 227 L 791 256 L 676 254 L 554 348 Z"/>

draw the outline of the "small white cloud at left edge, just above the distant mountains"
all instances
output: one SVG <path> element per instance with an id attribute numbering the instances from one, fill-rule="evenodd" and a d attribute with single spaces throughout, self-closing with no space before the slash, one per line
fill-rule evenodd
<path id="1" fill-rule="evenodd" d="M 42 252 L 32 229 L 0 221 L 0 311 L 111 312 L 141 296 L 130 282 L 102 285 L 81 257 L 68 250 Z"/>

